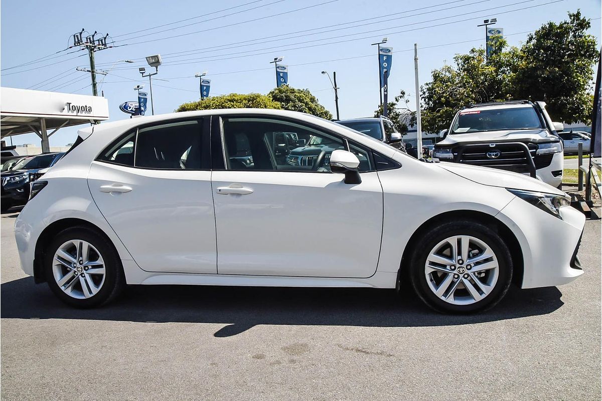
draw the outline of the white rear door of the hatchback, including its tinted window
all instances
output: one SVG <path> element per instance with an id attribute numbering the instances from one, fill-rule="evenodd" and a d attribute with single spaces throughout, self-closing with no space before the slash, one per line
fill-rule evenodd
<path id="1" fill-rule="evenodd" d="M 92 197 L 141 269 L 217 272 L 203 131 L 203 120 L 140 127 L 92 163 Z"/>

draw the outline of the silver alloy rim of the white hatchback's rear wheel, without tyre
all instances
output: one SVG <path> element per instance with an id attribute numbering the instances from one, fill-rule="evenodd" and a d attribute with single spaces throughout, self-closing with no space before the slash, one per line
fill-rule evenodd
<path id="1" fill-rule="evenodd" d="M 70 297 L 91 298 L 105 282 L 105 264 L 91 243 L 73 239 L 58 247 L 52 260 L 52 274 L 58 287 Z"/>

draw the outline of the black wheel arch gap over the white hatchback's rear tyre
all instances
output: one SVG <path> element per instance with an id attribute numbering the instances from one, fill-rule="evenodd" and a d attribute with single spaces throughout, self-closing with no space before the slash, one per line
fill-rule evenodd
<path id="1" fill-rule="evenodd" d="M 59 219 L 59 220 L 54 221 L 51 224 L 47 225 L 44 228 L 44 230 L 42 231 L 42 233 L 40 233 L 40 236 L 38 237 L 38 239 L 36 241 L 36 249 L 34 251 L 34 255 L 35 255 L 35 257 L 34 257 L 34 281 L 36 283 L 45 283 L 46 282 L 46 275 L 44 273 L 43 260 L 44 260 L 44 256 L 45 256 L 45 250 L 46 250 L 46 247 L 48 246 L 49 242 L 51 242 L 52 238 L 55 235 L 57 235 L 58 233 L 60 233 L 63 230 L 66 230 L 66 228 L 71 228 L 71 227 L 84 227 L 84 228 L 88 228 L 89 230 L 95 231 L 95 233 L 104 237 L 104 239 L 106 239 L 107 242 L 110 243 L 111 246 L 113 246 L 113 249 L 115 250 L 117 255 L 119 255 L 119 251 L 117 251 L 117 248 L 116 248 L 115 244 L 113 243 L 113 240 L 111 240 L 111 238 L 107 235 L 107 233 L 105 233 L 100 227 L 98 227 L 98 225 L 93 224 L 92 222 L 81 219 L 81 218 Z"/>

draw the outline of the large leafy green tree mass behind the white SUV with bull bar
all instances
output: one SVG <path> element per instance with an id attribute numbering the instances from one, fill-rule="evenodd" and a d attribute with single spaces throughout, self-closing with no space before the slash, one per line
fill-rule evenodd
<path id="1" fill-rule="evenodd" d="M 568 17 L 546 23 L 521 47 L 497 37 L 489 58 L 485 49 L 473 48 L 456 55 L 452 65 L 433 70 L 421 88 L 423 129 L 447 128 L 455 112 L 470 103 L 519 99 L 544 100 L 556 121 L 588 122 L 597 43 L 586 33 L 590 23 L 580 11 Z"/>

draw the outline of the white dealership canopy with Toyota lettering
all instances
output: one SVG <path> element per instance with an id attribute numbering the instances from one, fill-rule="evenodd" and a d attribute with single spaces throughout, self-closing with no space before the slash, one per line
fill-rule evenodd
<path id="1" fill-rule="evenodd" d="M 101 96 L 0 88 L 0 99 L 2 138 L 35 132 L 42 139 L 42 152 L 50 152 L 48 137 L 62 127 L 109 118 L 107 99 Z"/>

